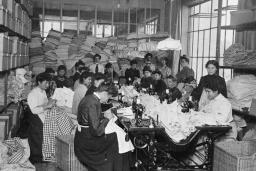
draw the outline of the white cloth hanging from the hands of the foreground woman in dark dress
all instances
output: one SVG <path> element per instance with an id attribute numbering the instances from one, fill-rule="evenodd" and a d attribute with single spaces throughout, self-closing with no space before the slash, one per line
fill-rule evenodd
<path id="1" fill-rule="evenodd" d="M 132 145 L 131 140 L 129 140 L 129 141 L 125 140 L 126 133 L 124 132 L 124 130 L 122 128 L 120 128 L 115 123 L 116 120 L 117 120 L 117 117 L 115 116 L 108 122 L 108 124 L 105 128 L 105 134 L 111 134 L 114 132 L 116 133 L 119 154 L 123 154 L 123 153 L 134 150 L 134 146 Z"/>

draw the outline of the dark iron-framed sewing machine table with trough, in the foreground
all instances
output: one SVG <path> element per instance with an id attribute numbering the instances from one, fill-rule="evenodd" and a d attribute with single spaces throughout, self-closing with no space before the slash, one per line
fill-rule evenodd
<path id="1" fill-rule="evenodd" d="M 230 126 L 202 126 L 189 137 L 177 143 L 165 132 L 165 128 L 156 121 L 153 127 L 138 127 L 124 117 L 119 117 L 120 125 L 127 132 L 135 146 L 137 170 L 156 169 L 212 169 L 213 146 L 215 140 L 225 134 Z M 200 137 L 204 139 L 199 141 Z M 203 149 L 203 162 L 198 164 L 191 154 Z"/>

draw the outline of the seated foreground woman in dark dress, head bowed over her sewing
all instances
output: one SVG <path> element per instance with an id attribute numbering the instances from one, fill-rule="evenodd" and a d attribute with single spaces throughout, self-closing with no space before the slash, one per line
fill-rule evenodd
<path id="1" fill-rule="evenodd" d="M 116 93 L 106 85 L 97 87 L 93 94 L 85 96 L 78 106 L 77 120 L 79 127 L 75 134 L 75 155 L 89 171 L 128 171 L 127 154 L 118 153 L 115 133 L 105 134 L 105 128 L 113 114 L 101 110 L 101 103 L 106 102 Z"/>

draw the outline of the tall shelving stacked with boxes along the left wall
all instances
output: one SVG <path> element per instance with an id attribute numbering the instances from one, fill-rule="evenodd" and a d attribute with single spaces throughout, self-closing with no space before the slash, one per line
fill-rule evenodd
<path id="1" fill-rule="evenodd" d="M 3 10 L 4 14 L 2 17 L 3 23 L 0 24 L 0 33 L 5 33 L 8 41 L 9 41 L 9 39 L 10 40 L 18 39 L 17 46 L 19 46 L 19 47 L 17 47 L 17 49 L 19 49 L 20 51 L 18 50 L 16 52 L 11 52 L 12 48 L 13 48 L 13 44 L 12 44 L 12 41 L 8 42 L 8 46 L 7 46 L 8 52 L 6 53 L 6 54 L 8 54 L 7 55 L 7 57 L 8 57 L 7 60 L 9 61 L 8 66 L 5 66 L 4 69 L 0 70 L 0 74 L 2 77 L 1 79 L 3 79 L 3 82 L 4 82 L 3 83 L 4 85 L 2 85 L 2 87 L 4 87 L 4 104 L 3 105 L 1 104 L 0 109 L 2 109 L 2 110 L 0 110 L 0 114 L 3 113 L 5 111 L 5 109 L 10 105 L 7 102 L 9 71 L 14 70 L 19 67 L 24 67 L 29 64 L 27 43 L 29 42 L 30 37 L 31 37 L 30 36 L 31 31 L 29 29 L 31 27 L 27 28 L 26 25 L 31 26 L 32 6 L 30 6 L 30 10 L 28 10 L 23 3 L 26 3 L 27 6 L 32 4 L 31 1 L 27 1 L 27 0 L 14 0 L 13 2 L 12 2 L 12 0 L 8 0 L 8 1 L 6 1 L 6 4 L 4 4 L 4 6 L 2 6 L 2 8 L 3 8 L 2 10 Z M 16 9 L 17 8 L 16 4 L 19 4 L 18 5 L 19 9 Z M 15 18 L 15 16 L 16 16 L 16 18 Z M 16 38 L 14 38 L 14 37 L 16 37 Z M 9 44 L 10 44 L 10 46 L 9 46 Z M 1 46 L 3 46 L 3 44 L 1 44 Z M 25 53 L 23 53 L 24 51 L 25 51 Z M 2 56 L 6 55 L 6 54 L 4 54 L 4 52 L 1 52 L 1 53 L 3 53 Z M 9 58 L 12 58 L 12 55 L 17 56 L 17 57 L 15 57 L 15 60 L 17 60 L 17 61 L 14 62 L 14 65 L 13 65 L 13 61 L 12 61 L 13 59 L 9 59 Z M 5 61 L 3 60 L 3 57 L 0 60 L 2 60 L 0 62 L 1 65 L 6 65 Z M 12 62 L 10 62 L 10 61 L 12 61 Z M 24 63 L 23 61 L 26 61 L 26 63 Z"/>

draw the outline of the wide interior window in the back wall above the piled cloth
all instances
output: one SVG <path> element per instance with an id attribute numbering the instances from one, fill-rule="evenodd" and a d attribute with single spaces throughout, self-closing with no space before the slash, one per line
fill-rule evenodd
<path id="1" fill-rule="evenodd" d="M 150 1 L 151 2 L 151 1 Z M 39 21 L 43 37 L 50 29 L 86 33 L 96 37 L 121 36 L 129 33 L 155 34 L 160 30 L 160 9 L 113 6 L 104 8 L 56 0 L 34 9 L 33 23 Z M 35 27 L 34 27 L 35 28 Z"/>

